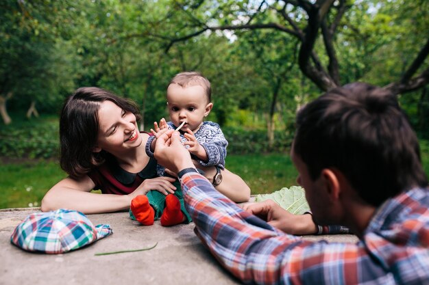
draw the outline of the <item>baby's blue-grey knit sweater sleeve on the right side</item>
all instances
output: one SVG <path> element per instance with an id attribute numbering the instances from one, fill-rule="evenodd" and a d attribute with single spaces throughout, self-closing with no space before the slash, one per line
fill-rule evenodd
<path id="1" fill-rule="evenodd" d="M 198 162 L 204 166 L 218 165 L 223 169 L 225 168 L 226 147 L 228 146 L 228 141 L 225 139 L 219 124 L 212 123 L 210 126 L 213 128 L 210 130 L 210 135 L 212 137 L 201 143 L 201 146 L 207 152 L 208 161 L 202 161 L 199 159 Z"/>

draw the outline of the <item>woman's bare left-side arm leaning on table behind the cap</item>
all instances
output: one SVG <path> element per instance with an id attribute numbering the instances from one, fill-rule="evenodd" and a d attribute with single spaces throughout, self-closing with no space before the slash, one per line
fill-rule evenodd
<path id="1" fill-rule="evenodd" d="M 94 187 L 93 180 L 87 175 L 79 179 L 64 178 L 45 194 L 42 211 L 58 208 L 69 208 L 85 214 L 121 211 L 130 208 L 131 200 L 136 196 L 136 191 L 130 195 L 90 193 Z"/>

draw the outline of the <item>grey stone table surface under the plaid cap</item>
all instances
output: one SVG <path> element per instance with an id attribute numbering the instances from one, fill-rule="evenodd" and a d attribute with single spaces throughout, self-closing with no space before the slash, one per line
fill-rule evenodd
<path id="1" fill-rule="evenodd" d="M 128 213 L 88 215 L 97 225 L 108 223 L 113 234 L 66 254 L 34 254 L 10 243 L 14 228 L 39 208 L 0 210 L 0 284 L 241 284 L 202 245 L 195 225 L 140 226 Z M 305 239 L 356 242 L 350 234 L 306 236 Z M 140 249 L 144 252 L 95 256 L 101 252 Z"/>

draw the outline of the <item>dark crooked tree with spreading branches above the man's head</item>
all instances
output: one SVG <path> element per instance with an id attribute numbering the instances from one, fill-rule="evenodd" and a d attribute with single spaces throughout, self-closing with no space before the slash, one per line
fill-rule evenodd
<path id="1" fill-rule="evenodd" d="M 424 59 L 429 54 L 428 3 L 426 1 L 350 1 L 350 0 L 278 0 L 278 1 L 174 1 L 171 5 L 180 13 L 186 25 L 169 36 L 170 45 L 199 36 L 208 31 L 249 31 L 256 29 L 277 30 L 287 33 L 299 42 L 297 63 L 302 73 L 321 90 L 329 90 L 344 83 L 341 80 L 341 62 L 337 47 L 341 45 L 343 34 L 354 23 L 347 22 L 356 13 L 377 15 L 385 8 L 400 14 L 402 5 L 423 10 L 419 21 L 426 25 L 421 31 L 424 40 L 417 55 L 402 72 L 399 79 L 385 87 L 394 94 L 417 90 L 429 81 L 428 64 Z M 407 2 L 405 4 L 405 2 Z M 413 2 L 413 3 L 410 3 Z M 420 6 L 420 7 L 419 7 Z M 426 7 L 426 9 L 425 9 Z M 266 17 L 274 13 L 275 18 Z M 408 14 L 408 19 L 413 15 Z M 368 18 L 369 21 L 373 19 Z M 423 19 L 423 20 L 422 20 Z M 188 25 L 192 23 L 193 25 Z M 395 25 L 395 21 L 391 21 Z M 355 26 L 354 33 L 359 32 Z M 165 36 L 164 36 L 165 37 Z M 349 42 L 350 44 L 350 42 Z M 381 48 L 382 45 L 378 46 Z M 322 53 L 323 51 L 323 53 Z M 377 49 L 372 52 L 375 53 Z M 366 56 L 366 55 L 364 55 Z M 416 73 L 418 73 L 416 75 Z"/>

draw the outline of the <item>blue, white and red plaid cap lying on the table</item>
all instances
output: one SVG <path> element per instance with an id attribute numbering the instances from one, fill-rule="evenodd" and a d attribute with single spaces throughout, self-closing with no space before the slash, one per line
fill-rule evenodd
<path id="1" fill-rule="evenodd" d="M 10 242 L 29 252 L 61 254 L 112 234 L 109 225 L 93 223 L 81 212 L 59 209 L 28 215 L 16 226 Z"/>

